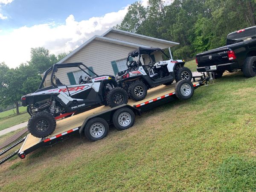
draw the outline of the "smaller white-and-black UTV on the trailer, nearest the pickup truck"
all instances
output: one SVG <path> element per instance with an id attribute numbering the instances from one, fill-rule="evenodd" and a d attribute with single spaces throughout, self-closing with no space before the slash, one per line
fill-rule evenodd
<path id="1" fill-rule="evenodd" d="M 152 56 L 155 52 L 160 52 L 168 58 L 167 61 L 154 61 Z M 141 58 L 148 57 L 149 63 L 144 65 Z M 138 61 L 133 61 L 138 58 Z M 174 80 L 176 82 L 186 79 L 191 81 L 192 73 L 189 68 L 184 67 L 184 60 L 170 59 L 160 48 L 143 48 L 130 52 L 127 57 L 127 70 L 116 74 L 116 81 L 119 87 L 127 90 L 128 95 L 135 101 L 140 101 L 147 95 L 147 90 L 161 84 L 169 85 Z"/>

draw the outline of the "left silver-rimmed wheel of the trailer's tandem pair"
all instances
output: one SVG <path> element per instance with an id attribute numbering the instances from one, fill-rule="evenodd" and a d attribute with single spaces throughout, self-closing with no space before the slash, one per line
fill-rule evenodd
<path id="1" fill-rule="evenodd" d="M 84 127 L 84 135 L 90 141 L 103 139 L 108 135 L 108 131 L 108 122 L 100 117 L 90 119 Z"/>

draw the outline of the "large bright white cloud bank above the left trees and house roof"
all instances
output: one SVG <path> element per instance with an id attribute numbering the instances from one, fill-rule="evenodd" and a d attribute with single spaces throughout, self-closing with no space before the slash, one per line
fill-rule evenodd
<path id="1" fill-rule="evenodd" d="M 32 27 L 23 26 L 8 35 L 0 35 L 0 62 L 5 61 L 9 67 L 17 67 L 20 63 L 30 60 L 32 47 L 43 46 L 54 54 L 69 52 L 93 35 L 101 35 L 121 23 L 127 9 L 128 6 L 118 12 L 80 22 L 76 21 L 73 15 L 69 15 L 64 24 L 52 22 Z"/>

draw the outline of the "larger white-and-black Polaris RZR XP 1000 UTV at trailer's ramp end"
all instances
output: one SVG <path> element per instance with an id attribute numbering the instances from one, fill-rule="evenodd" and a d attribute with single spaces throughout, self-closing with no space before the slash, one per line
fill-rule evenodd
<path id="1" fill-rule="evenodd" d="M 69 71 L 81 74 L 73 85 L 61 83 L 58 79 L 63 79 Z M 82 63 L 68 63 L 54 64 L 49 68 L 38 90 L 22 96 L 21 101 L 32 116 L 28 123 L 29 132 L 41 138 L 55 130 L 55 119 L 99 105 L 115 107 L 126 104 L 128 94 L 118 87 L 114 76 L 98 76 Z"/>

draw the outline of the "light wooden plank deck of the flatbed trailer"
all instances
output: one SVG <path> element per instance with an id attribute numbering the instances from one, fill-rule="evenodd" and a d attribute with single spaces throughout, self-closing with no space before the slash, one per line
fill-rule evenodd
<path id="1" fill-rule="evenodd" d="M 199 85 L 198 81 L 195 81 L 192 83 L 193 83 L 194 87 L 196 85 Z M 173 93 L 173 92 L 175 92 L 175 84 L 171 84 L 168 86 L 161 85 L 161 86 L 158 86 L 158 87 L 148 90 L 148 94 L 147 94 L 146 98 L 143 99 L 142 101 L 135 102 L 132 99 L 129 99 L 128 105 L 138 107 L 138 106 L 140 106 L 140 104 L 143 104 L 145 102 L 151 101 L 156 98 L 160 98 L 161 96 L 167 96 L 168 94 Z M 108 109 L 109 109 L 108 106 L 100 106 L 100 107 L 91 109 L 89 111 L 85 111 L 83 113 L 79 113 L 77 115 L 68 117 L 66 119 L 59 119 L 59 120 L 57 120 L 57 125 L 56 125 L 55 131 L 52 133 L 52 135 L 50 135 L 47 138 L 49 140 L 49 138 L 52 138 L 52 137 L 54 138 L 55 136 L 58 137 L 59 134 L 62 134 L 62 135 L 67 134 L 72 129 L 75 129 L 75 128 L 78 129 L 83 124 L 83 122 L 87 116 L 92 116 L 96 113 L 100 113 L 100 112 L 106 111 Z M 47 138 L 44 138 L 44 141 L 47 141 Z M 36 145 L 37 143 L 40 143 L 41 141 L 42 141 L 41 138 L 37 138 L 37 137 L 34 137 L 31 134 L 29 134 L 26 137 L 26 140 L 24 141 L 22 147 L 20 148 L 20 152 L 25 151 L 28 148 L 31 148 L 33 145 Z"/>

